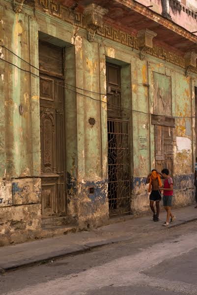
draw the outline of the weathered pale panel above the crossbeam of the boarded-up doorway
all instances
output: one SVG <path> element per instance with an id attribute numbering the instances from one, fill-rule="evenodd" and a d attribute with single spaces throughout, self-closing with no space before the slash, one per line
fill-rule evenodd
<path id="1" fill-rule="evenodd" d="M 154 82 L 154 114 L 162 116 L 172 115 L 171 78 L 153 72 Z"/>

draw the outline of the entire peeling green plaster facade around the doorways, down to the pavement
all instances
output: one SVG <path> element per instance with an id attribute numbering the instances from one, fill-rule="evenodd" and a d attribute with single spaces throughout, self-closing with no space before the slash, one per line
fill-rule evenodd
<path id="1" fill-rule="evenodd" d="M 156 2 L 156 1 L 155 1 Z M 4 2 L 3 2 L 4 3 Z M 195 153 L 194 86 L 183 69 L 139 53 L 126 45 L 95 37 L 88 42 L 84 29 L 25 8 L 15 14 L 11 3 L 0 6 L 3 44 L 38 67 L 38 31 L 68 44 L 65 50 L 66 82 L 84 90 L 92 100 L 65 89 L 67 220 L 80 228 L 109 221 L 106 59 L 124 66 L 121 71 L 122 102 L 129 110 L 131 212 L 149 210 L 146 176 L 155 166 L 153 72 L 171 77 L 173 129 L 174 205 L 194 200 Z M 58 44 L 56 44 L 58 45 Z M 27 63 L 5 49 L 1 56 L 29 70 Z M 36 237 L 41 231 L 39 80 L 34 75 L 0 63 L 0 225 L 2 243 Z M 31 72 L 38 75 L 36 69 Z M 83 92 L 81 92 L 83 93 Z M 127 96 L 128 99 L 125 99 Z M 19 113 L 19 105 L 24 114 Z M 95 124 L 89 123 L 94 118 Z M 89 188 L 96 188 L 90 194 Z"/>

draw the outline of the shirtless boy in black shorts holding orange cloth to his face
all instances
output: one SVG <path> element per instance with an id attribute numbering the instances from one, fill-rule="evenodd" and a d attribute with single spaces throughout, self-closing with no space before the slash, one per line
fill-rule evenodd
<path id="1" fill-rule="evenodd" d="M 151 173 L 147 176 L 146 183 L 149 183 L 148 191 L 151 192 L 149 200 L 150 200 L 150 208 L 153 212 L 153 221 L 159 221 L 159 212 L 160 212 L 160 204 L 159 202 L 162 200 L 161 191 L 159 189 L 162 186 L 161 174 L 157 172 L 157 170 L 153 169 Z M 156 202 L 156 211 L 154 207 L 154 202 Z"/>

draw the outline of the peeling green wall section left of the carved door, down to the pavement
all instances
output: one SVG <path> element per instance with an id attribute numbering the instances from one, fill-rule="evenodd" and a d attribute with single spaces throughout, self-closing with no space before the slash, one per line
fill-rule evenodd
<path id="1" fill-rule="evenodd" d="M 1 2 L 0 45 L 31 63 L 37 43 L 37 31 L 35 35 L 32 28 L 36 30 L 34 18 L 16 14 L 11 3 Z M 29 36 L 35 37 L 33 47 Z M 27 72 L 33 70 L 22 59 L 2 47 L 0 52 L 1 58 L 9 62 L 0 62 L 0 245 L 3 245 L 35 237 L 41 229 L 41 180 L 37 177 L 40 175 L 36 87 L 39 81 Z M 19 112 L 20 105 L 23 114 Z M 31 132 L 32 117 L 36 134 Z"/>

